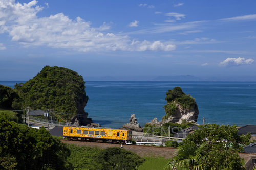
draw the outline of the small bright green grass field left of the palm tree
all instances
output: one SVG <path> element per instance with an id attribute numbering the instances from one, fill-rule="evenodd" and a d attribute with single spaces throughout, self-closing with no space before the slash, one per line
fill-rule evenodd
<path id="1" fill-rule="evenodd" d="M 170 159 L 164 157 L 144 157 L 145 162 L 139 166 L 138 170 L 161 170 Z"/>

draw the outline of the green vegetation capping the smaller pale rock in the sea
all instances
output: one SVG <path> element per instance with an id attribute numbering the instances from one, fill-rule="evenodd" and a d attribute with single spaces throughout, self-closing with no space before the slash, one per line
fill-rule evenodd
<path id="1" fill-rule="evenodd" d="M 190 95 L 186 95 L 180 87 L 174 87 L 173 90 L 166 92 L 165 98 L 167 104 L 164 106 L 166 115 L 162 119 L 167 119 L 171 115 L 175 114 L 178 107 L 176 103 L 180 104 L 184 109 L 191 109 L 196 105 L 196 101 Z"/>

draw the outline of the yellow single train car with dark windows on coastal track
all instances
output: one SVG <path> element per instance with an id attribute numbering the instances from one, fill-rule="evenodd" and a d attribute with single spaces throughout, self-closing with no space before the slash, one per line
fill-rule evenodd
<path id="1" fill-rule="evenodd" d="M 127 143 L 132 140 L 132 131 L 125 129 L 92 128 L 92 127 L 63 127 L 63 137 L 68 140 L 88 140 L 112 143 Z"/>

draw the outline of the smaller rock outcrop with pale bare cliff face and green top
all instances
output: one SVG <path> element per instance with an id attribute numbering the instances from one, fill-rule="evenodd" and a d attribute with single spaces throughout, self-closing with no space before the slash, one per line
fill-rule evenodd
<path id="1" fill-rule="evenodd" d="M 166 115 L 162 117 L 161 121 L 154 118 L 147 124 L 162 126 L 167 122 L 182 123 L 197 122 L 199 110 L 194 98 L 186 95 L 180 87 L 175 87 L 166 93 L 167 104 L 164 106 Z"/>

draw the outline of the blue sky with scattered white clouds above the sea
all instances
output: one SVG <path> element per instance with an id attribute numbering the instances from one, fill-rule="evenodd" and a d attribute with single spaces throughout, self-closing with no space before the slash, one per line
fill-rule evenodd
<path id="1" fill-rule="evenodd" d="M 0 0 L 0 80 L 29 80 L 46 65 L 85 81 L 255 78 L 255 9 L 255 0 Z"/>

